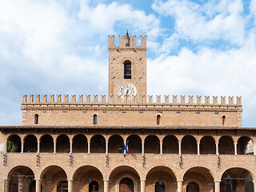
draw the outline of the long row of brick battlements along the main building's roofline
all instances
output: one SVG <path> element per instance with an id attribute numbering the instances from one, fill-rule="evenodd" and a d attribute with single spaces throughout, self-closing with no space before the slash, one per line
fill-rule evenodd
<path id="1" fill-rule="evenodd" d="M 172 101 L 171 101 L 172 100 Z M 120 96 L 114 97 L 110 95 L 106 101 L 106 95 L 75 95 L 71 96 L 68 94 L 50 94 L 50 95 L 22 95 L 22 105 L 63 105 L 63 104 L 76 104 L 76 105 L 86 105 L 86 104 L 122 104 L 122 105 L 171 105 L 171 106 L 234 106 L 242 107 L 242 98 L 236 97 L 236 102 L 234 102 L 234 97 L 221 97 L 220 102 L 218 102 L 218 97 L 205 96 L 204 102 L 202 102 L 202 96 L 180 96 L 178 101 L 178 96 L 172 96 L 170 99 L 169 95 L 165 95 L 162 99 L 161 95 L 149 95 L 146 96 L 135 96 L 133 98 L 122 99 Z"/>

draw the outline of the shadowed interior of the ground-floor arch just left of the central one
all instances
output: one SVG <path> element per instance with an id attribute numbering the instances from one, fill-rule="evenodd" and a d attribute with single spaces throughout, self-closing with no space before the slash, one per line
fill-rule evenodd
<path id="1" fill-rule="evenodd" d="M 102 170 L 95 166 L 80 166 L 72 174 L 74 182 L 79 182 L 80 185 L 76 187 L 76 191 L 89 191 L 92 182 L 98 183 L 98 191 L 104 190 Z"/>

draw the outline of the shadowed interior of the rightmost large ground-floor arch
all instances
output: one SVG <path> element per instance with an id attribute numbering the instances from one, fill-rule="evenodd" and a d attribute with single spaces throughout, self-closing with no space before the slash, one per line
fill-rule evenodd
<path id="1" fill-rule="evenodd" d="M 222 173 L 221 191 L 254 192 L 254 174 L 242 167 L 232 167 Z"/>

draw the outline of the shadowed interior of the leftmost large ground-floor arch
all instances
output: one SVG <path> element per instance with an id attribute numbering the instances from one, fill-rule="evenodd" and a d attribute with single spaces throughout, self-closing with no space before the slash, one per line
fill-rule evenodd
<path id="1" fill-rule="evenodd" d="M 22 190 L 35 192 L 34 171 L 28 166 L 14 166 L 8 173 L 9 189 L 7 191 L 18 191 L 18 187 L 22 186 Z"/>

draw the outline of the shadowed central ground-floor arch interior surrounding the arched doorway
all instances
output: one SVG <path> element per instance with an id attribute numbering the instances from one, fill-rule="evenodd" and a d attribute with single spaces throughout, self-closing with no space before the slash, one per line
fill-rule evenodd
<path id="1" fill-rule="evenodd" d="M 124 178 L 132 180 L 134 184 L 134 192 L 140 191 L 140 179 L 141 176 L 131 166 L 118 166 L 110 171 L 109 179 L 113 181 L 110 183 L 110 191 L 119 192 L 119 184 Z"/>

